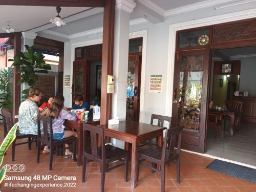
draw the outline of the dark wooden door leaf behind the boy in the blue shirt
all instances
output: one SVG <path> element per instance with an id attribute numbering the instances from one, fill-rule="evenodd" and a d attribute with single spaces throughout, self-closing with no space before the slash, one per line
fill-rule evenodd
<path id="1" fill-rule="evenodd" d="M 87 59 L 73 62 L 72 101 L 77 94 L 83 95 L 83 100 L 88 101 L 89 92 L 87 90 L 90 90 L 89 75 L 90 66 Z"/>

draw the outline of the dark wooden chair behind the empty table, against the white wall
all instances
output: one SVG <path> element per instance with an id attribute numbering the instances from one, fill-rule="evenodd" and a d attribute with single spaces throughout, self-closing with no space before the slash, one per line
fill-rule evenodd
<path id="1" fill-rule="evenodd" d="M 172 121 L 172 117 L 152 114 L 150 124 L 153 125 L 154 119 L 158 120 L 157 126 L 161 126 L 161 127 L 163 127 L 164 121 L 169 122 L 169 127 L 168 128 L 170 128 L 170 122 Z M 157 138 L 144 141 L 144 142 L 139 144 L 139 147 L 144 146 L 144 145 L 157 145 Z"/>

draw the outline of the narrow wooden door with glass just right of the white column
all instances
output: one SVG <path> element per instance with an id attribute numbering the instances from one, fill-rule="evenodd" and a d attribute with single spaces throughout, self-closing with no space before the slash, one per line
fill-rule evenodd
<path id="1" fill-rule="evenodd" d="M 129 55 L 126 90 L 126 120 L 139 122 L 141 55 Z"/>

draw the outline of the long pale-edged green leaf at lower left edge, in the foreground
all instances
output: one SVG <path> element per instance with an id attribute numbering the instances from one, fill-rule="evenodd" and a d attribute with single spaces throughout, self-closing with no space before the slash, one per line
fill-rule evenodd
<path id="1" fill-rule="evenodd" d="M 8 132 L 7 136 L 5 137 L 4 141 L 2 142 L 2 144 L 0 146 L 0 166 L 3 163 L 5 152 L 7 151 L 10 144 L 16 138 L 17 127 L 18 127 L 18 123 L 15 123 L 15 125 L 13 125 L 12 129 Z"/>

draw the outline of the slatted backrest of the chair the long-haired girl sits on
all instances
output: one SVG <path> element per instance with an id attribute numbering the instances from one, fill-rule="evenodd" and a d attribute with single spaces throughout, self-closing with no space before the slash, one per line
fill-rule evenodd
<path id="1" fill-rule="evenodd" d="M 43 131 L 44 131 L 43 133 L 41 133 L 41 124 L 42 124 Z M 47 117 L 47 116 L 40 115 L 40 114 L 37 115 L 37 131 L 38 131 L 38 137 L 45 139 L 45 140 L 48 140 L 48 132 L 49 132 L 50 133 L 50 141 L 53 141 L 51 117 Z"/>

